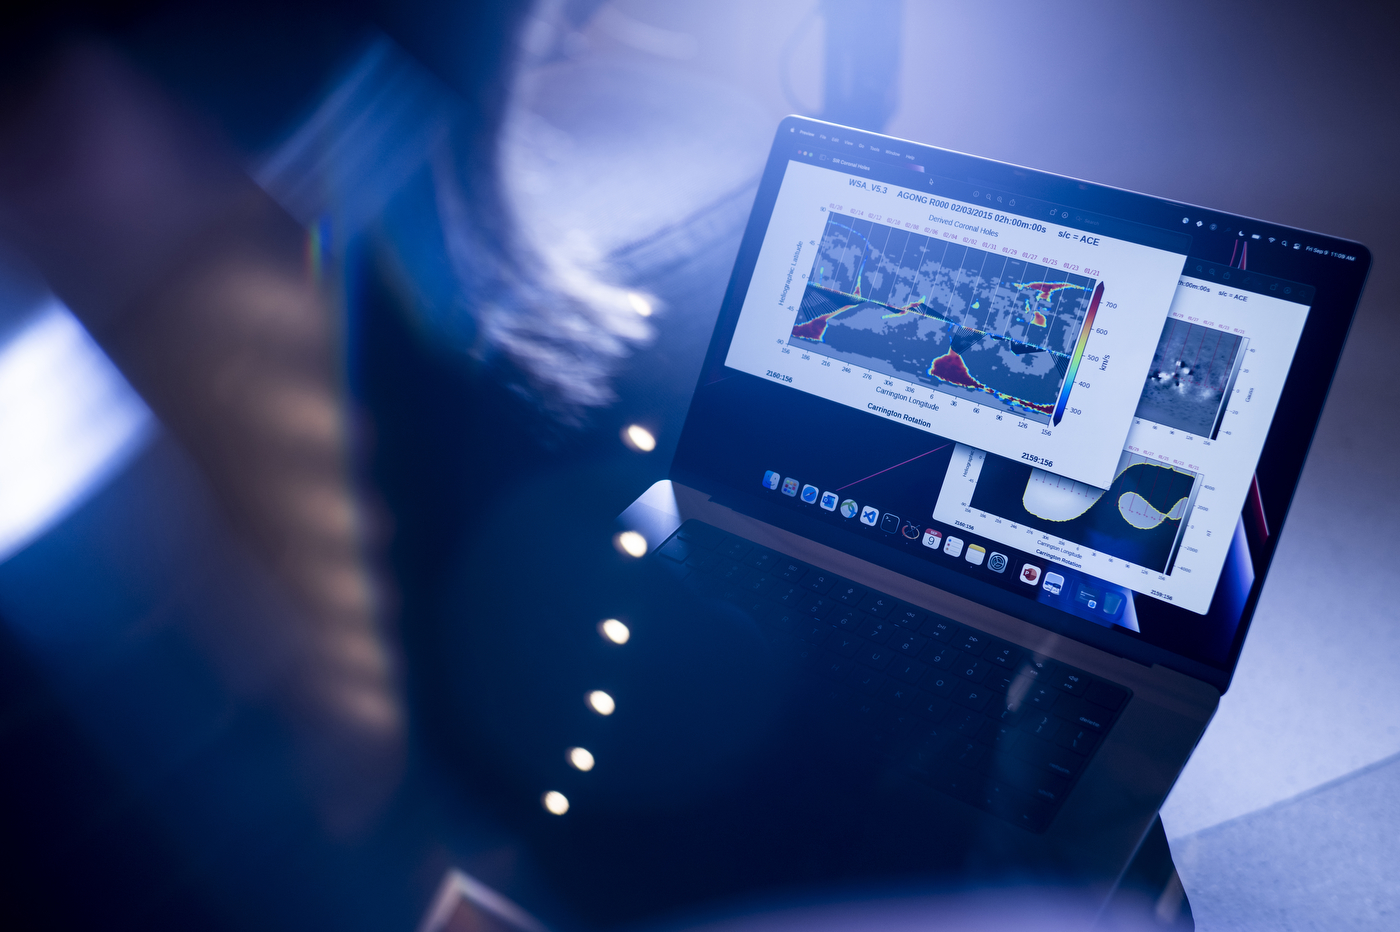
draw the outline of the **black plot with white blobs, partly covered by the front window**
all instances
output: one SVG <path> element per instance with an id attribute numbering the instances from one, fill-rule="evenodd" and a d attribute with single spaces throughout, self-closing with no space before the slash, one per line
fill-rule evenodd
<path id="1" fill-rule="evenodd" d="M 1113 484 L 1095 488 L 988 453 L 967 504 L 1002 521 L 1169 574 L 1182 546 L 1183 518 L 1196 502 L 1200 481 L 1198 473 L 1124 452 Z"/>

